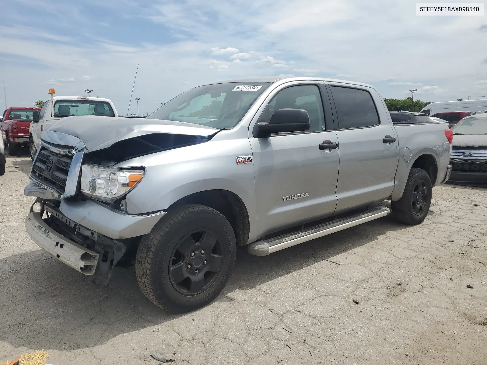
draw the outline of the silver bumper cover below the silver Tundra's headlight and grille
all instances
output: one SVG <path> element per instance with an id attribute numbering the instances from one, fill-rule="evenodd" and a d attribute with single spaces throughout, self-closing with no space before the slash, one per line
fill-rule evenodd
<path id="1" fill-rule="evenodd" d="M 56 194 L 51 190 L 33 182 L 25 187 L 24 195 L 40 199 L 56 199 Z M 161 211 L 134 216 L 92 200 L 66 201 L 66 199 L 61 201 L 59 210 L 66 218 L 75 223 L 112 239 L 125 239 L 148 234 L 159 219 L 166 214 Z"/>

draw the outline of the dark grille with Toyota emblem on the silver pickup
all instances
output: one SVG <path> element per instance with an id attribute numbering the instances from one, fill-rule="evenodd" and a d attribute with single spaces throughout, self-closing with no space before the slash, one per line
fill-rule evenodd
<path id="1" fill-rule="evenodd" d="M 34 161 L 34 176 L 39 182 L 64 194 L 68 171 L 73 157 L 60 155 L 44 147 L 41 148 L 37 159 Z"/>

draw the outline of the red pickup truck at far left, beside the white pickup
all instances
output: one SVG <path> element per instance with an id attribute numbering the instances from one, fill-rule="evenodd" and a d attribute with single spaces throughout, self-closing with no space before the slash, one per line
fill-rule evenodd
<path id="1" fill-rule="evenodd" d="M 40 108 L 11 107 L 3 112 L 0 131 L 9 155 L 17 154 L 18 146 L 29 146 L 29 128 L 34 110 Z"/>

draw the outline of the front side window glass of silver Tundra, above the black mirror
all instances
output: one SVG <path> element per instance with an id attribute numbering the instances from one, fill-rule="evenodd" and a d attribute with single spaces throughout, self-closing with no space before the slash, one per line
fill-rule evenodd
<path id="1" fill-rule="evenodd" d="M 267 104 L 259 121 L 268 123 L 274 111 L 289 108 L 304 109 L 308 112 L 310 128 L 307 132 L 325 130 L 325 117 L 318 86 L 291 86 L 279 91 Z"/>

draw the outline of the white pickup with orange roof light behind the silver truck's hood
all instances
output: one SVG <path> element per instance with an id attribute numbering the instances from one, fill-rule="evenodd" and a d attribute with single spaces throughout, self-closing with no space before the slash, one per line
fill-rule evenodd
<path id="1" fill-rule="evenodd" d="M 99 115 L 118 117 L 110 99 L 88 96 L 53 96 L 41 110 L 34 112 L 34 119 L 29 130 L 29 153 L 32 161 L 40 148 L 40 135 L 51 128 L 61 118 L 75 115 Z"/>

